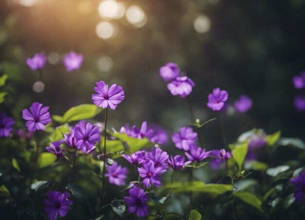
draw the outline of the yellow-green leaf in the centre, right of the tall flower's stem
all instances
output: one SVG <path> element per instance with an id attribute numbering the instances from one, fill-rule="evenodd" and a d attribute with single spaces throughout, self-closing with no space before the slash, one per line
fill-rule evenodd
<path id="1" fill-rule="evenodd" d="M 148 140 L 147 138 L 144 139 L 137 139 L 137 138 L 133 138 L 133 137 L 129 137 L 127 134 L 125 133 L 118 133 L 118 132 L 110 132 L 110 134 L 123 141 L 126 142 L 126 144 L 129 146 L 129 152 L 130 153 L 134 153 L 144 147 L 148 147 L 149 145 L 151 145 L 152 143 L 150 142 L 150 140 Z"/>

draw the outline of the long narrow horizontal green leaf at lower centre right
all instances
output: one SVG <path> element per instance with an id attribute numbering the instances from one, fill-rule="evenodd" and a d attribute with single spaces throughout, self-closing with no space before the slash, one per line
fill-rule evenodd
<path id="1" fill-rule="evenodd" d="M 205 184 L 201 181 L 192 182 L 176 182 L 165 185 L 166 188 L 172 189 L 172 192 L 203 192 L 210 193 L 215 196 L 233 190 L 229 184 Z"/>

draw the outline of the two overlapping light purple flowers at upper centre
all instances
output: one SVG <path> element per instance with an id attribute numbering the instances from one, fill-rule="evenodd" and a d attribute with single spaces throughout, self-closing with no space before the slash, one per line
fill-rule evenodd
<path id="1" fill-rule="evenodd" d="M 160 75 L 167 84 L 172 95 L 180 95 L 185 98 L 191 94 L 195 83 L 188 76 L 179 76 L 180 69 L 176 63 L 167 63 L 160 68 Z"/>

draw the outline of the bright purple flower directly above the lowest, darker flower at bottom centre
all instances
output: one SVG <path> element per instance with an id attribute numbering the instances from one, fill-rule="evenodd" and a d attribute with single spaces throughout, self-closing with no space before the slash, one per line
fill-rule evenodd
<path id="1" fill-rule="evenodd" d="M 166 170 L 162 170 L 162 167 L 154 167 L 152 161 L 143 164 L 141 168 L 138 168 L 140 177 L 144 178 L 142 183 L 147 187 L 151 187 L 151 182 L 157 187 L 161 186 L 161 174 Z"/>

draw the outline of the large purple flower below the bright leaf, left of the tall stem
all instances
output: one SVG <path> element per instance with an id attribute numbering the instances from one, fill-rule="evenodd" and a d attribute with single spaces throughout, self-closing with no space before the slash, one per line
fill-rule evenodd
<path id="1" fill-rule="evenodd" d="M 96 147 L 95 144 L 99 142 L 100 132 L 97 126 L 92 123 L 82 120 L 74 129 L 74 135 L 76 139 L 76 146 L 83 153 L 90 153 Z"/>

